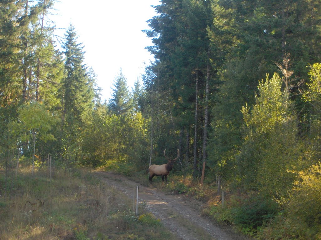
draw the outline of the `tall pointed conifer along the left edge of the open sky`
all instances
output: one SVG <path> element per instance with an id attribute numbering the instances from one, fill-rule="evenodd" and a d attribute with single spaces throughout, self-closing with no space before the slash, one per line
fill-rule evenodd
<path id="1" fill-rule="evenodd" d="M 94 91 L 84 64 L 84 51 L 77 43 L 77 33 L 69 26 L 62 45 L 65 54 L 65 77 L 61 84 L 62 157 L 67 165 L 80 160 L 84 144 L 84 131 L 90 123 L 93 110 Z"/>

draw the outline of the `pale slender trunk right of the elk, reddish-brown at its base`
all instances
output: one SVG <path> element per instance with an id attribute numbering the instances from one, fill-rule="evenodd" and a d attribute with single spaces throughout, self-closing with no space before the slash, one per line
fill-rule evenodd
<path id="1" fill-rule="evenodd" d="M 204 173 L 205 173 L 205 164 L 206 164 L 209 80 L 210 80 L 210 65 L 209 65 L 209 63 L 207 63 L 207 66 L 206 66 L 204 135 L 203 135 L 203 169 L 202 169 L 201 185 L 203 185 L 203 182 L 204 182 Z"/>

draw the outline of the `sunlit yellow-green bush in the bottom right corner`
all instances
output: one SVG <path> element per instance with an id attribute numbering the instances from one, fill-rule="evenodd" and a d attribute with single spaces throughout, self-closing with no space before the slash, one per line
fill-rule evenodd
<path id="1" fill-rule="evenodd" d="M 321 237 L 321 163 L 299 172 L 289 202 L 259 233 L 258 239 L 319 239 Z"/>

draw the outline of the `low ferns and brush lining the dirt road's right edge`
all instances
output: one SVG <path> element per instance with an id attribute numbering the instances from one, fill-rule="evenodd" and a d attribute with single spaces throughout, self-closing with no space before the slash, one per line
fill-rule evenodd
<path id="1" fill-rule="evenodd" d="M 145 186 L 151 186 L 148 173 L 136 172 L 122 173 L 122 168 L 107 168 L 132 177 Z M 125 168 L 126 169 L 126 168 Z M 153 179 L 153 187 L 167 194 L 184 194 L 194 198 L 200 203 L 200 213 L 213 221 L 234 229 L 235 232 L 258 240 L 274 239 L 321 239 L 320 215 L 321 201 L 321 166 L 314 165 L 308 171 L 299 173 L 299 180 L 292 189 L 291 196 L 286 205 L 281 205 L 273 199 L 256 191 L 247 193 L 239 189 L 229 188 L 229 184 L 221 185 L 220 194 L 218 185 L 211 179 L 205 179 L 201 185 L 192 175 L 182 175 L 177 171 L 169 175 L 168 183 L 163 183 L 161 177 Z M 224 203 L 222 202 L 224 191 Z M 312 195 L 307 195 L 312 192 Z"/>

